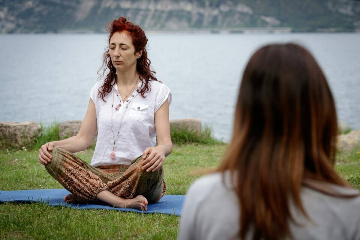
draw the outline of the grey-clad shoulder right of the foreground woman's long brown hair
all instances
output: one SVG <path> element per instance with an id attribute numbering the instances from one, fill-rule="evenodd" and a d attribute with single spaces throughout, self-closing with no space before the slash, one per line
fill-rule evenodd
<path id="1" fill-rule="evenodd" d="M 312 234 L 318 235 L 319 239 L 360 239 L 360 196 L 354 196 L 359 191 L 333 184 L 323 187 L 332 188 L 343 196 L 303 187 L 302 205 L 311 221 L 292 205 L 294 219 L 305 224 L 301 227 L 291 223 L 294 235 L 304 236 L 304 239 L 312 239 Z"/>

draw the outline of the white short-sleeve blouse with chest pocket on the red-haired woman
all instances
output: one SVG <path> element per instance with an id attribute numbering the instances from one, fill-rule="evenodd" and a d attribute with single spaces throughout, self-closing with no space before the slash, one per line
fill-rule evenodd
<path id="1" fill-rule="evenodd" d="M 97 82 L 90 91 L 90 98 L 93 100 L 96 109 L 96 122 L 98 126 L 98 138 L 91 166 L 130 164 L 131 160 L 138 157 L 143 151 L 155 146 L 156 130 L 154 113 L 161 107 L 166 100 L 169 105 L 172 100 L 170 89 L 165 84 L 158 81 L 149 81 L 150 92 L 145 94 L 145 98 L 141 97 L 136 90 L 123 103 L 118 94 L 117 85 L 114 84 L 112 91 L 104 97 L 103 101 L 98 97 L 99 87 L 104 80 Z M 114 91 L 114 100 L 113 100 Z M 117 95 L 120 97 L 118 98 Z M 114 101 L 114 107 L 112 103 Z M 121 104 L 119 110 L 116 105 Z M 110 158 L 113 148 L 112 118 L 111 111 L 113 108 L 113 128 L 115 142 L 115 159 Z M 125 113 L 124 116 L 122 114 Z M 121 122 L 122 119 L 122 122 Z M 119 131 L 119 126 L 121 127 Z"/>

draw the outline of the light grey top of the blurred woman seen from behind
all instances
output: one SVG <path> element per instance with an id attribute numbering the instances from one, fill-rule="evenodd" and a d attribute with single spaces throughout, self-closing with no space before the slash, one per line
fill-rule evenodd
<path id="1" fill-rule="evenodd" d="M 220 173 L 214 173 L 198 179 L 190 186 L 180 219 L 179 240 L 231 239 L 238 233 L 238 199 L 234 191 L 224 186 L 221 176 Z M 358 193 L 355 189 L 325 185 L 341 194 Z M 290 222 L 295 239 L 360 240 L 360 196 L 339 198 L 303 187 L 301 200 L 313 221 L 306 219 L 300 210 L 291 207 L 294 219 L 303 225 L 297 226 Z M 247 239 L 251 239 L 251 233 Z"/>

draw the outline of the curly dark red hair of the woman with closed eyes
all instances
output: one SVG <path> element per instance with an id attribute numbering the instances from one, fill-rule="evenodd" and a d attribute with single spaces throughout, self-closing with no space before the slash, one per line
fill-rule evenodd
<path id="1" fill-rule="evenodd" d="M 141 57 L 136 62 L 136 70 L 138 71 L 139 75 L 142 76 L 140 80 L 143 83 L 140 87 L 140 90 L 137 91 L 141 94 L 143 98 L 145 98 L 145 93 L 151 90 L 149 81 L 158 81 L 157 78 L 154 76 L 155 71 L 153 71 L 153 69 L 150 69 L 151 62 L 150 59 L 148 58 L 148 53 L 145 48 L 148 42 L 148 39 L 145 36 L 145 32 L 140 28 L 139 25 L 129 22 L 128 19 L 124 17 L 120 17 L 119 19 L 114 19 L 113 21 L 109 22 L 105 28 L 110 33 L 109 43 L 114 33 L 127 31 L 128 36 L 132 40 L 132 44 L 134 44 L 135 53 L 139 51 L 143 51 Z M 108 95 L 109 92 L 111 92 L 111 87 L 116 83 L 116 68 L 113 66 L 111 62 L 111 58 L 109 55 L 109 47 L 107 47 L 105 50 L 103 65 L 98 71 L 99 74 L 98 80 L 104 77 L 107 69 L 109 69 L 109 72 L 106 75 L 103 86 L 99 87 L 99 93 L 98 93 L 99 98 L 103 99 L 103 101 L 105 101 L 104 97 Z M 102 73 L 100 74 L 99 72 L 101 70 Z M 113 84 L 111 84 L 113 80 L 115 81 L 113 82 Z"/>

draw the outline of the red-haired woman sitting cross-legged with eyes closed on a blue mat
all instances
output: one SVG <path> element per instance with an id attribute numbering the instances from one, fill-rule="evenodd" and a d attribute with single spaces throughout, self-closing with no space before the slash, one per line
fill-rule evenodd
<path id="1" fill-rule="evenodd" d="M 42 145 L 39 162 L 72 193 L 66 203 L 100 200 L 147 210 L 166 190 L 162 164 L 172 151 L 171 93 L 150 70 L 148 39 L 138 25 L 121 17 L 108 23 L 107 30 L 109 47 L 100 78 L 108 73 L 90 91 L 78 134 Z M 85 150 L 96 130 L 89 165 L 72 153 Z"/>

